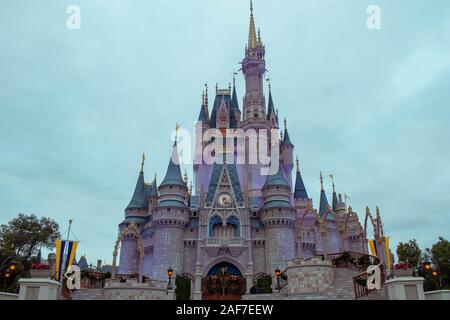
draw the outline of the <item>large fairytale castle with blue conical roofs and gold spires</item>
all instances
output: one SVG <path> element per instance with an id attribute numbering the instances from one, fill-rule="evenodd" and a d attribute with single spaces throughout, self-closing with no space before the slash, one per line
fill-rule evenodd
<path id="1" fill-rule="evenodd" d="M 294 258 L 367 253 L 365 228 L 336 193 L 334 182 L 331 201 L 327 200 L 322 174 L 319 207 L 313 208 L 298 160 L 294 162 L 286 121 L 280 128 L 270 83 L 266 101 L 265 72 L 265 46 L 251 7 L 242 60 L 242 111 L 234 82 L 232 87 L 216 88 L 211 112 L 206 89 L 196 132 L 278 129 L 277 172 L 262 175 L 262 164 L 196 163 L 194 185 L 189 187 L 177 161 L 177 141 L 159 185 L 156 178 L 145 182 L 142 162 L 125 220 L 119 224 L 120 274 L 167 280 L 171 267 L 175 275 L 190 274 L 198 293 L 200 280 L 226 265 L 227 272 L 245 279 L 248 290 L 254 275 L 283 270 Z M 196 142 L 202 147 L 208 143 L 199 136 Z"/>

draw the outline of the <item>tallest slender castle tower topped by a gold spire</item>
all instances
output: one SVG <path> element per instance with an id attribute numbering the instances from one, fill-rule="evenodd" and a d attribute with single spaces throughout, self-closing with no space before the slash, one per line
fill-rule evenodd
<path id="1" fill-rule="evenodd" d="M 245 58 L 242 60 L 242 72 L 245 77 L 244 121 L 265 118 L 263 76 L 266 72 L 266 61 L 264 55 L 265 48 L 261 37 L 256 36 L 253 3 L 250 1 L 248 43 L 245 48 Z"/>

